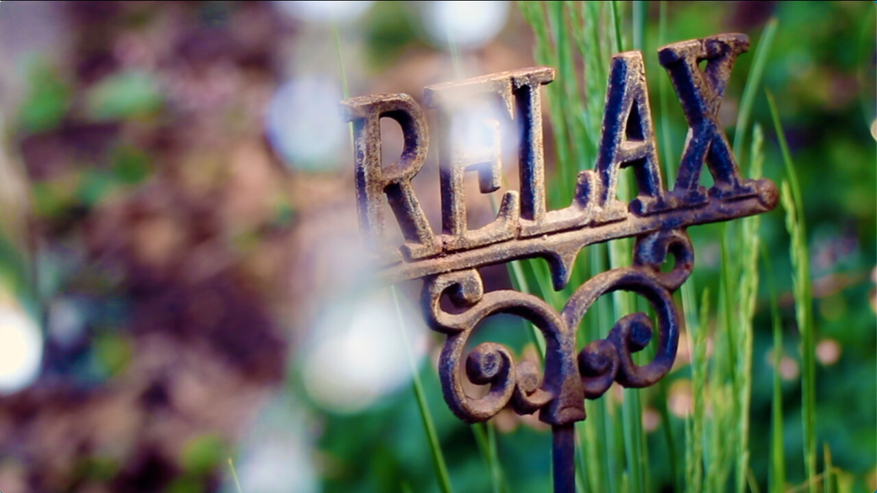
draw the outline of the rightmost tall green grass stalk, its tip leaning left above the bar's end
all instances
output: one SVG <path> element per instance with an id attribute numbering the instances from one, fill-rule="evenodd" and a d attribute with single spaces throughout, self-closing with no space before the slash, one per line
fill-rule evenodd
<path id="1" fill-rule="evenodd" d="M 774 129 L 780 141 L 782 159 L 786 165 L 788 181 L 781 187 L 781 202 L 786 210 L 786 228 L 792 237 L 791 258 L 794 268 L 793 288 L 795 294 L 795 318 L 801 332 L 802 351 L 802 425 L 804 435 L 804 468 L 807 471 L 808 489 L 816 492 L 816 348 L 815 327 L 813 324 L 813 286 L 810 280 L 807 233 L 803 218 L 803 197 L 795 173 L 792 155 L 788 150 L 786 135 L 782 131 L 779 113 L 776 111 L 774 96 L 767 92 L 767 104 Z"/>

